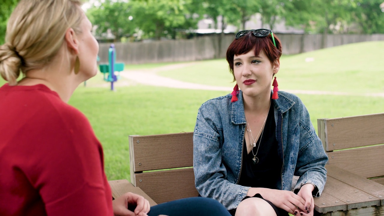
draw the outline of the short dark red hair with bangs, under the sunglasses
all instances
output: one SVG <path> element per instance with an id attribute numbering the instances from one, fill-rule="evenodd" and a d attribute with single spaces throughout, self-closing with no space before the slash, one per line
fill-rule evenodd
<path id="1" fill-rule="evenodd" d="M 249 32 L 247 35 L 233 40 L 227 50 L 227 61 L 229 71 L 233 75 L 233 81 L 235 81 L 235 75 L 233 74 L 233 56 L 235 55 L 255 50 L 255 56 L 258 56 L 263 50 L 271 63 L 276 59 L 280 59 L 282 53 L 281 42 L 275 34 L 273 34 L 273 37 L 275 38 L 276 47 L 273 45 L 271 34 L 266 37 L 256 37 L 252 32 Z"/>

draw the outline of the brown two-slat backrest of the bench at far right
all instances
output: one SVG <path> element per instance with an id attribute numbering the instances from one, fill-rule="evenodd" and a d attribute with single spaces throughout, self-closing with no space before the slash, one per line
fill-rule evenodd
<path id="1" fill-rule="evenodd" d="M 329 164 L 365 178 L 384 176 L 384 113 L 318 119 L 318 135 Z"/>

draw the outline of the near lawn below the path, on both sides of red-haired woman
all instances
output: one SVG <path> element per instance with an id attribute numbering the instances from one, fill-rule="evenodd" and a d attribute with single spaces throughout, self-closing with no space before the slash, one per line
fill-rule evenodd
<path id="1" fill-rule="evenodd" d="M 129 135 L 193 131 L 200 105 L 225 94 L 227 92 L 142 85 L 119 87 L 116 91 L 78 88 L 70 104 L 89 118 L 103 144 L 108 179 L 129 179 Z M 381 97 L 298 96 L 308 108 L 315 128 L 318 118 L 379 113 L 384 107 Z"/>

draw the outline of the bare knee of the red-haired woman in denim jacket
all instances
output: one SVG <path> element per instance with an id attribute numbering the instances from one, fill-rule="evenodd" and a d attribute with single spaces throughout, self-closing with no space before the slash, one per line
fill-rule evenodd
<path id="1" fill-rule="evenodd" d="M 261 216 L 261 215 L 271 215 L 276 216 L 275 210 L 272 206 L 261 198 L 251 197 L 244 199 L 237 206 L 235 216 Z"/>

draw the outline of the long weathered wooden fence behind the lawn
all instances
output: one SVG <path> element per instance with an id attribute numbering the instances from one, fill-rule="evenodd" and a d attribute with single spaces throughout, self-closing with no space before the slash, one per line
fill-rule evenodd
<path id="1" fill-rule="evenodd" d="M 276 34 L 283 44 L 283 54 L 298 54 L 348 43 L 384 40 L 384 34 L 374 35 L 302 35 Z M 233 34 L 195 37 L 189 40 L 115 43 L 116 61 L 126 64 L 197 61 L 225 58 Z M 324 37 L 324 40 L 323 40 Z M 324 44 L 324 45 L 323 45 Z M 108 62 L 110 43 L 100 43 L 100 62 Z"/>

